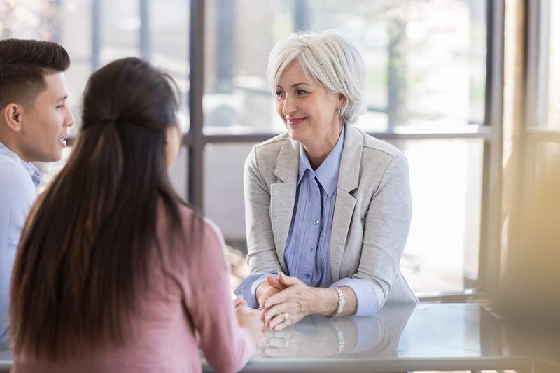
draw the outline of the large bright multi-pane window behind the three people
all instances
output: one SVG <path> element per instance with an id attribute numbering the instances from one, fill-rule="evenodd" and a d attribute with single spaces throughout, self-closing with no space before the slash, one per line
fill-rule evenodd
<path id="1" fill-rule="evenodd" d="M 1 2 L 0 34 L 66 46 L 76 129 L 85 80 L 102 64 L 135 55 L 174 76 L 185 131 L 174 185 L 241 250 L 244 159 L 254 143 L 283 131 L 265 78 L 268 53 L 294 31 L 339 29 L 367 66 L 368 110 L 358 127 L 409 159 L 414 216 L 403 272 L 418 292 L 479 286 L 479 258 L 487 250 L 480 245 L 488 213 L 482 200 L 496 162 L 491 149 L 499 145 L 493 127 L 501 125 L 489 101 L 500 92 L 493 76 L 501 71 L 492 64 L 492 48 L 501 43 L 494 24 L 502 17 L 499 1 L 39 2 Z M 550 27 L 556 23 L 551 19 Z M 558 44 L 551 36 L 551 50 Z M 548 73 L 558 75 L 555 53 Z"/>

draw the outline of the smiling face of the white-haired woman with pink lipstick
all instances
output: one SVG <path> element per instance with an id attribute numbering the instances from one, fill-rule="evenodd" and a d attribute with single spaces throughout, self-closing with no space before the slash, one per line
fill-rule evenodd
<path id="1" fill-rule="evenodd" d="M 309 80 L 297 62 L 288 66 L 276 86 L 276 111 L 290 137 L 304 146 L 339 133 L 338 109 L 344 100 Z"/>

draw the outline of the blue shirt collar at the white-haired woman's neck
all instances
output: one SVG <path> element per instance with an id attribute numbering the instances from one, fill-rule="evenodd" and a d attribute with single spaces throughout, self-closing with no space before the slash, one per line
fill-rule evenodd
<path id="1" fill-rule="evenodd" d="M 340 158 L 342 157 L 342 148 L 344 148 L 344 127 L 345 125 L 342 125 L 342 130 L 340 131 L 335 147 L 330 150 L 329 155 L 315 171 L 311 168 L 307 154 L 300 143 L 300 168 L 297 174 L 298 184 L 305 175 L 305 172 L 308 171 L 311 176 L 317 179 L 318 183 L 321 184 L 321 187 L 323 187 L 323 190 L 325 190 L 329 197 L 336 191 Z"/>

